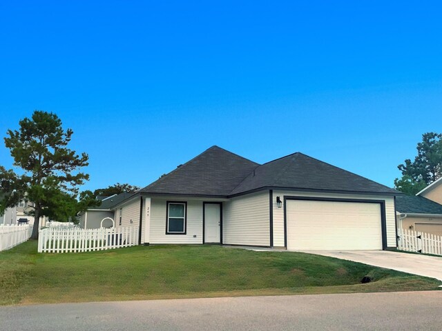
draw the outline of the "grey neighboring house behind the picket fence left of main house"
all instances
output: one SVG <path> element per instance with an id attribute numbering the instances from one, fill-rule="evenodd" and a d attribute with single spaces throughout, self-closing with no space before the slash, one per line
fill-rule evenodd
<path id="1" fill-rule="evenodd" d="M 118 222 L 121 220 L 122 213 L 120 210 L 113 210 L 113 207 L 132 195 L 133 193 L 123 192 L 114 194 L 111 197 L 97 197 L 102 200 L 101 205 L 79 213 L 80 228 L 97 229 L 115 227 L 115 221 Z"/>

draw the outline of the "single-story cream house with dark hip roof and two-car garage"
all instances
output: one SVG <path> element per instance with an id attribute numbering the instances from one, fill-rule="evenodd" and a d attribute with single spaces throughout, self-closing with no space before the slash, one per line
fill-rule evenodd
<path id="1" fill-rule="evenodd" d="M 258 164 L 213 146 L 109 209 L 144 245 L 386 250 L 397 194 L 300 152 Z"/>

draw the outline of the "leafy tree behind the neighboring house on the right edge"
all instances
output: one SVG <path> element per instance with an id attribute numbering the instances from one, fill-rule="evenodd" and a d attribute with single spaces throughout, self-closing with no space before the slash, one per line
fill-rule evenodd
<path id="1" fill-rule="evenodd" d="M 408 194 L 416 194 L 426 185 L 442 176 L 442 134 L 427 132 L 417 144 L 414 161 L 406 159 L 398 165 L 403 177 L 395 179 L 395 188 Z"/>

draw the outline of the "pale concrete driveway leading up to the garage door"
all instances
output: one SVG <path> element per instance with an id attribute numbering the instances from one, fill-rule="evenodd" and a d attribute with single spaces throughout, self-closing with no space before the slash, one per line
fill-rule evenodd
<path id="1" fill-rule="evenodd" d="M 304 252 L 376 265 L 376 267 L 408 272 L 410 274 L 419 274 L 420 276 L 442 281 L 442 257 L 429 257 L 427 255 L 389 252 L 386 250 L 320 250 Z"/>

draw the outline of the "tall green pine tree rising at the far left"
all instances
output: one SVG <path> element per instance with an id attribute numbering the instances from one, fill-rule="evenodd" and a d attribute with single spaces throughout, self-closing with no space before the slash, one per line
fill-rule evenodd
<path id="1" fill-rule="evenodd" d="M 74 203 L 70 198 L 89 178 L 79 171 L 88 165 L 88 155 L 79 156 L 67 147 L 73 130 L 64 130 L 61 120 L 52 112 L 35 110 L 31 119 L 19 121 L 19 127 L 8 130 L 4 140 L 21 174 L 0 168 L 0 205 L 7 208 L 24 197 L 35 203 L 32 238 L 37 239 L 41 215 L 57 214 L 62 209 L 65 214 L 71 213 Z"/>

